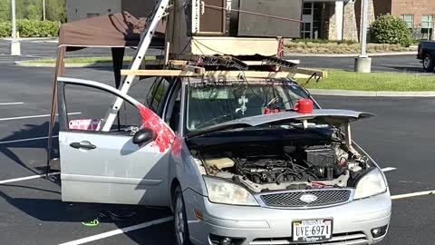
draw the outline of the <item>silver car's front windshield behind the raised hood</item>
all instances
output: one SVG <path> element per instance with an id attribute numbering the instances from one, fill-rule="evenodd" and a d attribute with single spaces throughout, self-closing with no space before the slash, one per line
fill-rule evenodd
<path id="1" fill-rule="evenodd" d="M 190 83 L 187 130 L 243 117 L 293 110 L 309 95 L 289 81 Z"/>

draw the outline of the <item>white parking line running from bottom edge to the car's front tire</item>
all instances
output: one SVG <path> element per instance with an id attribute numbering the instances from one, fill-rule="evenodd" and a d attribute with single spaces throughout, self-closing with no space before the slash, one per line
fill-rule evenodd
<path id="1" fill-rule="evenodd" d="M 159 219 L 159 220 L 152 220 L 152 221 L 149 221 L 149 222 L 141 223 L 141 224 L 138 224 L 138 225 L 133 225 L 133 226 L 122 228 L 122 229 L 118 229 L 118 230 L 111 230 L 111 231 L 104 232 L 102 234 L 94 235 L 94 236 L 91 236 L 91 237 L 87 237 L 87 238 L 83 238 L 83 239 L 79 239 L 79 240 L 68 241 L 68 242 L 65 242 L 65 243 L 62 243 L 62 244 L 59 244 L 59 245 L 79 245 L 79 244 L 83 244 L 83 243 L 86 243 L 86 242 L 91 242 L 91 241 L 94 241 L 94 240 L 102 240 L 102 239 L 105 239 L 105 238 L 108 238 L 108 237 L 112 237 L 112 236 L 116 236 L 116 235 L 119 235 L 119 234 L 122 234 L 122 233 L 127 233 L 127 232 L 130 232 L 132 230 L 139 230 L 139 229 L 147 228 L 147 227 L 150 227 L 150 226 L 153 226 L 153 225 L 157 225 L 157 224 L 160 224 L 160 223 L 165 223 L 165 222 L 168 222 L 168 221 L 170 221 L 172 219 L 173 219 L 172 217 L 166 217 L 166 218 Z"/>

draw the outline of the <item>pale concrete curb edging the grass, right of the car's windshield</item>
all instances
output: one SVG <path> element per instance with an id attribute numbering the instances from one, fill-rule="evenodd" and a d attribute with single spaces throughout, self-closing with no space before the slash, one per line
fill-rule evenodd
<path id="1" fill-rule="evenodd" d="M 435 91 L 424 92 L 391 92 L 391 91 L 354 91 L 309 89 L 313 95 L 351 96 L 351 97 L 435 97 Z"/>

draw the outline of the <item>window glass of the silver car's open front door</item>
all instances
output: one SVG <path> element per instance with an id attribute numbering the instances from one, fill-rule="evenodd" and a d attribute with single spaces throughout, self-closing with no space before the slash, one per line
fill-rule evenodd
<path id="1" fill-rule="evenodd" d="M 116 99 L 116 95 L 86 86 L 65 85 L 65 105 L 67 129 L 70 131 L 101 132 L 106 113 Z M 112 133 L 134 132 L 140 128 L 139 110 L 124 102 L 111 126 Z"/>

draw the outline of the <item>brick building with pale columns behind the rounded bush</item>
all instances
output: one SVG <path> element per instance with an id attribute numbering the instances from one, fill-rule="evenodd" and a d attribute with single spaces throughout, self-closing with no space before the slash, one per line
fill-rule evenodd
<path id="1" fill-rule="evenodd" d="M 310 7 L 314 8 L 313 18 L 305 15 Z M 435 0 L 369 0 L 369 23 L 379 15 L 400 17 L 415 39 L 435 40 Z M 305 0 L 301 37 L 358 41 L 361 19 L 362 0 Z M 307 24 L 310 21 L 312 24 Z"/>

